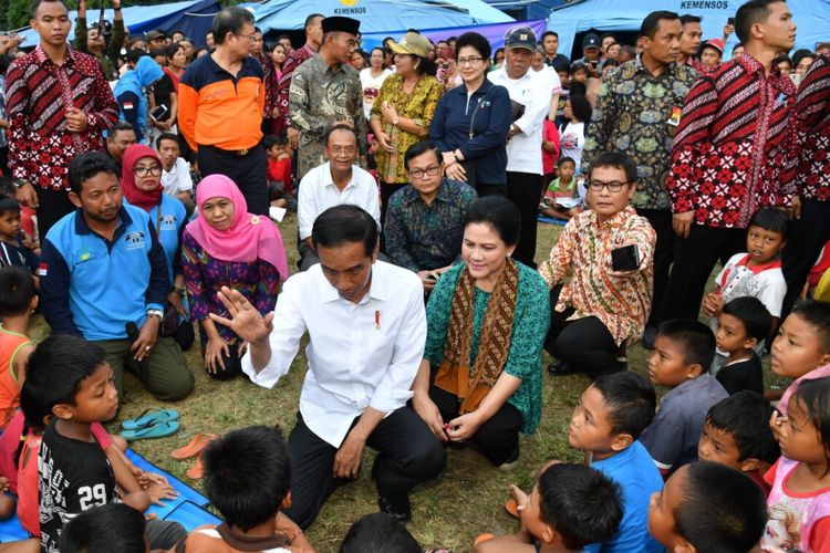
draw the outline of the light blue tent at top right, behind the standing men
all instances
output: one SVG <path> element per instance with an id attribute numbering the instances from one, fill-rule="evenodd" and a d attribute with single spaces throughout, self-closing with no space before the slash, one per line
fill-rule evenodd
<path id="1" fill-rule="evenodd" d="M 571 52 L 577 33 L 594 29 L 603 32 L 639 32 L 643 19 L 654 10 L 672 10 L 703 18 L 703 39 L 719 39 L 723 28 L 743 3 L 741 0 L 584 0 L 551 12 L 548 29 L 559 33 L 559 51 Z M 830 0 L 787 0 L 798 25 L 796 49 L 816 50 L 826 41 L 830 29 Z M 729 58 L 732 46 L 738 43 L 733 34 L 726 44 Z"/>

